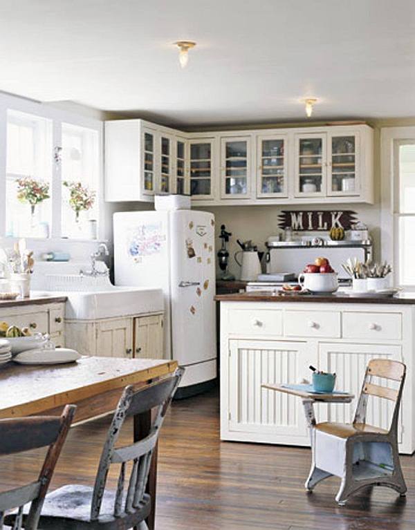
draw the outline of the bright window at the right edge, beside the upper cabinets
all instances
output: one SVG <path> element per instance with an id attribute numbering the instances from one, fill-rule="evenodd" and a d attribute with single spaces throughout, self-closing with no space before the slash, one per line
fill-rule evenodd
<path id="1" fill-rule="evenodd" d="M 415 285 L 415 140 L 395 142 L 398 284 Z"/>

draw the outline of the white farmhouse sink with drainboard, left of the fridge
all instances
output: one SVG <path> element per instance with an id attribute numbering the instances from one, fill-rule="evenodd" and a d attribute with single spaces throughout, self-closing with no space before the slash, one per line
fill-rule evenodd
<path id="1" fill-rule="evenodd" d="M 48 294 L 68 298 L 65 319 L 96 320 L 164 310 L 163 290 L 158 287 L 120 287 L 107 276 L 91 278 L 78 274 L 49 278 Z"/>

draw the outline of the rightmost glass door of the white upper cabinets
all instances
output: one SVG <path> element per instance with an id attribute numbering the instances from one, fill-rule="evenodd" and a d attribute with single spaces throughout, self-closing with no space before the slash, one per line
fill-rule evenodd
<path id="1" fill-rule="evenodd" d="M 358 133 L 329 137 L 329 195 L 358 195 Z"/>

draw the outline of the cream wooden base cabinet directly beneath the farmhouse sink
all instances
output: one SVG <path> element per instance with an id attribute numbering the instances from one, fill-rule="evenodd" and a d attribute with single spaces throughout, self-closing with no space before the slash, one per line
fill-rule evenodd
<path id="1" fill-rule="evenodd" d="M 83 355 L 163 359 L 163 313 L 66 321 L 66 344 Z"/>

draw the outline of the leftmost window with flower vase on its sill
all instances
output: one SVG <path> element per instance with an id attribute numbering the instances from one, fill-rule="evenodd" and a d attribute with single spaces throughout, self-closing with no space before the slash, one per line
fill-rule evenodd
<path id="1" fill-rule="evenodd" d="M 52 121 L 7 112 L 6 235 L 48 237 Z"/>

